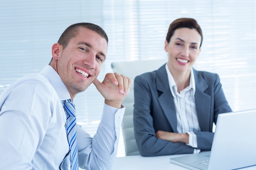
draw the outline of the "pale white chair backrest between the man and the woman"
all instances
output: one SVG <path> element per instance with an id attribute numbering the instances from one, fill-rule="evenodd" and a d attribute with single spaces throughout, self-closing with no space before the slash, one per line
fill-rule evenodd
<path id="1" fill-rule="evenodd" d="M 133 95 L 133 81 L 137 75 L 142 73 L 150 72 L 157 70 L 160 66 L 166 63 L 168 60 L 137 60 L 129 62 L 113 62 L 111 64 L 114 72 L 123 74 L 129 77 L 132 80 L 130 87 L 130 92 L 123 101 L 123 105 L 126 107 L 124 113 L 124 119 L 122 121 L 122 132 L 124 137 L 124 146 L 126 156 L 129 155 L 140 155 L 139 150 L 134 137 L 133 130 L 133 104 L 134 104 L 134 95 Z"/>

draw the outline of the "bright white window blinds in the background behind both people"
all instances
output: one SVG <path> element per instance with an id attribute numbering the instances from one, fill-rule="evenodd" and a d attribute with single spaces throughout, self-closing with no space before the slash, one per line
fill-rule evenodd
<path id="1" fill-rule="evenodd" d="M 163 48 L 170 22 L 191 17 L 204 32 L 194 67 L 220 75 L 232 110 L 255 107 L 256 3 L 252 0 L 2 0 L 0 16 L 0 93 L 17 78 L 38 73 L 51 59 L 49 49 L 59 33 L 70 24 L 92 22 L 108 34 L 101 80 L 112 71 L 113 61 L 166 59 Z M 103 100 L 94 85 L 75 99 L 78 123 L 92 136 L 98 126 L 92 122 L 101 120 Z M 118 155 L 124 156 L 124 148 L 119 147 Z"/>

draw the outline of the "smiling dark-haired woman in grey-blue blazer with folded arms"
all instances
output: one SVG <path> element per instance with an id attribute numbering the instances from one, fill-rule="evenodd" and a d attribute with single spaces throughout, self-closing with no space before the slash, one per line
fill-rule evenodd
<path id="1" fill-rule="evenodd" d="M 192 68 L 203 35 L 196 20 L 179 18 L 168 29 L 168 63 L 134 80 L 134 131 L 142 156 L 211 150 L 213 122 L 231 112 L 217 74 Z"/>

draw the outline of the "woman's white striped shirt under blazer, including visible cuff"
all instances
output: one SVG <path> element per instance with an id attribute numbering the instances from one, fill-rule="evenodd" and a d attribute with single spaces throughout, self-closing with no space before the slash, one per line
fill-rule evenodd
<path id="1" fill-rule="evenodd" d="M 184 88 L 180 93 L 177 91 L 177 85 L 168 68 L 165 66 L 168 75 L 168 82 L 171 89 L 171 93 L 174 98 L 175 110 L 177 115 L 177 132 L 189 134 L 189 146 L 197 148 L 197 138 L 194 132 L 200 131 L 198 122 L 198 116 L 195 108 L 195 78 L 193 69 L 190 71 L 189 86 Z M 195 149 L 194 153 L 198 153 L 200 150 Z"/>

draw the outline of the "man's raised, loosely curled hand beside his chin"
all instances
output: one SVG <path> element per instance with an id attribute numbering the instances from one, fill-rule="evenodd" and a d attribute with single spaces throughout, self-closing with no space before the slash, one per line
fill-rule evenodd
<path id="1" fill-rule="evenodd" d="M 107 73 L 103 82 L 95 79 L 93 84 L 105 98 L 105 103 L 115 108 L 121 108 L 121 103 L 130 91 L 131 80 L 118 73 Z"/>

